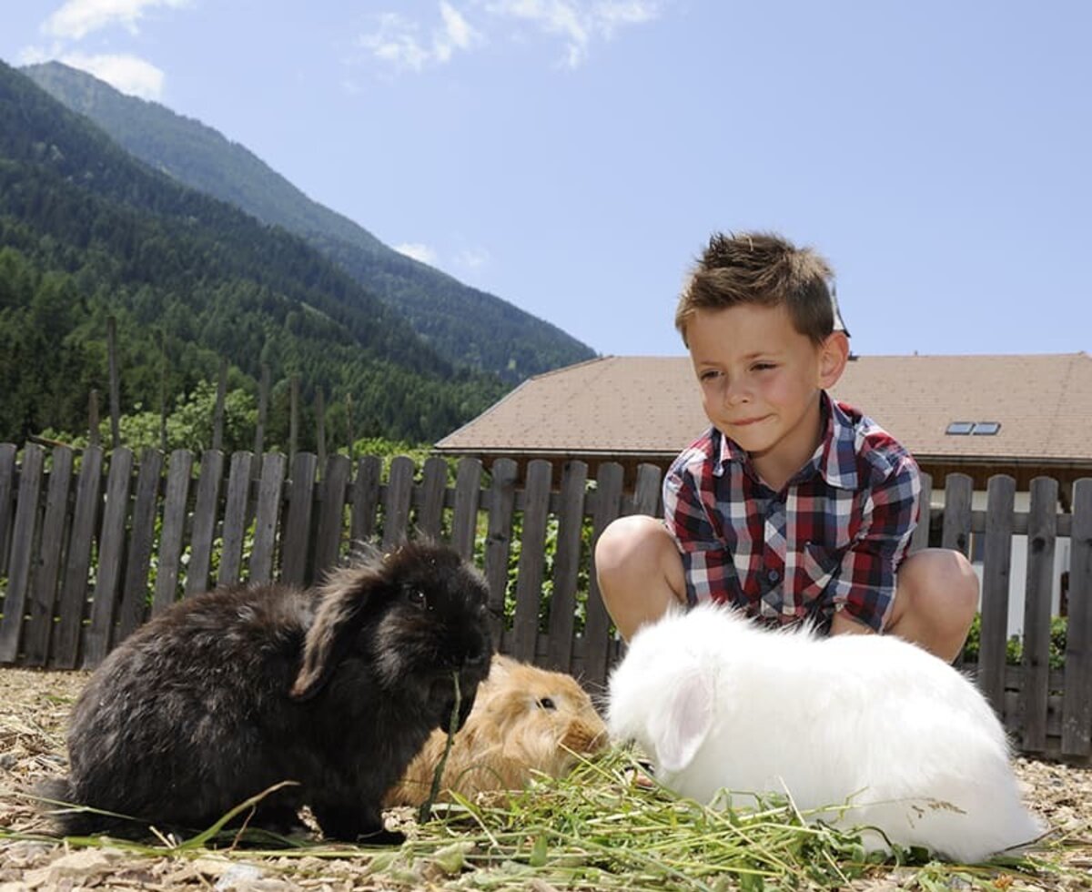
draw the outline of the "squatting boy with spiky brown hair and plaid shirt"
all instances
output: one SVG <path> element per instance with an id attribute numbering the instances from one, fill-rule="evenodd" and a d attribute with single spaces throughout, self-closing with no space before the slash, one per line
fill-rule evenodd
<path id="1" fill-rule="evenodd" d="M 665 521 L 620 518 L 595 548 L 604 604 L 627 640 L 673 603 L 712 598 L 772 623 L 808 619 L 959 655 L 977 578 L 958 551 L 905 555 L 919 473 L 827 393 L 848 358 L 831 277 L 821 257 L 779 236 L 710 239 L 675 325 L 712 428 L 668 471 Z"/>

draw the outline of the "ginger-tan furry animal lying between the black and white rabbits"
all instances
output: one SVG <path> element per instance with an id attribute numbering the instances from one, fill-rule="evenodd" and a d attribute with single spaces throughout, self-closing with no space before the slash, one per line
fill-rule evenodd
<path id="1" fill-rule="evenodd" d="M 428 797 L 447 739 L 443 730 L 434 732 L 383 797 L 384 806 L 418 806 Z M 522 789 L 536 772 L 561 777 L 581 756 L 606 745 L 606 726 L 572 676 L 495 655 L 474 709 L 452 740 L 439 798 L 450 800 L 452 789 L 467 799 Z"/>

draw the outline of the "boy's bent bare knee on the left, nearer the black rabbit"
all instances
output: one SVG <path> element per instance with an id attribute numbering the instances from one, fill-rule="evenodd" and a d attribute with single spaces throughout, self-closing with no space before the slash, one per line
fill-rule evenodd
<path id="1" fill-rule="evenodd" d="M 686 604 L 682 559 L 663 521 L 632 514 L 613 521 L 595 545 L 603 604 L 627 641 L 638 627 Z"/>

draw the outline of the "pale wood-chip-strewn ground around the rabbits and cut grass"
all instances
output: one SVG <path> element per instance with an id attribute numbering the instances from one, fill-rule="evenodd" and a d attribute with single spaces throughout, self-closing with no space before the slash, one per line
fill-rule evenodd
<path id="1" fill-rule="evenodd" d="M 0 892 L 81 892 L 92 889 L 239 890 L 240 892 L 376 892 L 408 888 L 450 888 L 451 878 L 436 882 L 416 878 L 397 881 L 369 870 L 369 856 L 346 849 L 345 857 L 232 857 L 212 852 L 187 856 L 134 855 L 111 848 L 69 849 L 61 843 L 33 839 L 48 830 L 24 794 L 40 777 L 63 771 L 64 723 L 86 680 L 82 673 L 0 669 Z M 1055 837 L 1069 843 L 1059 849 L 1065 878 L 999 877 L 997 889 L 1010 892 L 1075 892 L 1092 890 L 1092 769 L 1017 760 L 1017 773 L 1029 804 L 1049 823 Z M 15 839 L 12 839 L 12 836 Z M 241 855 L 241 857 L 240 857 Z M 1052 856 L 1053 857 L 1053 856 Z M 963 882 L 963 881 L 960 881 Z M 474 888 L 473 884 L 463 888 Z M 532 880 L 526 888 L 549 892 Z M 915 871 L 888 871 L 875 881 L 855 881 L 857 892 L 936 889 Z M 945 889 L 968 888 L 959 882 Z"/>

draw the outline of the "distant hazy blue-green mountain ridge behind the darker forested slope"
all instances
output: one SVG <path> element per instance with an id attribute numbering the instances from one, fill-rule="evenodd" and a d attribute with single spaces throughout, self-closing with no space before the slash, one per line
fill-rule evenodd
<path id="1" fill-rule="evenodd" d="M 150 166 L 301 236 L 396 307 L 418 334 L 455 364 L 486 369 L 515 383 L 595 356 L 560 329 L 389 248 L 199 121 L 126 96 L 59 62 L 22 71 Z"/>

